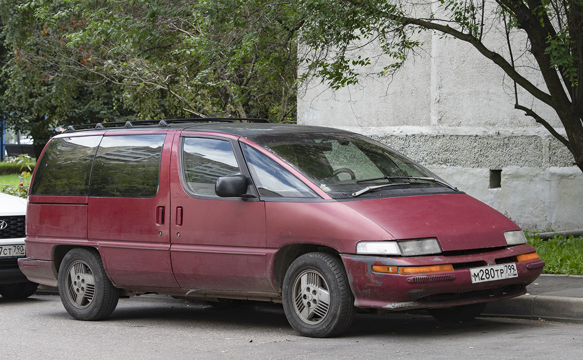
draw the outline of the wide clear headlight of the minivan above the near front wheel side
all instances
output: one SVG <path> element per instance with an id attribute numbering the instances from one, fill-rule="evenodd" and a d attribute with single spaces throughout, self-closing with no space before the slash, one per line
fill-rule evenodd
<path id="1" fill-rule="evenodd" d="M 407 241 L 361 241 L 356 244 L 356 253 L 361 255 L 429 255 L 441 252 L 436 238 Z"/>

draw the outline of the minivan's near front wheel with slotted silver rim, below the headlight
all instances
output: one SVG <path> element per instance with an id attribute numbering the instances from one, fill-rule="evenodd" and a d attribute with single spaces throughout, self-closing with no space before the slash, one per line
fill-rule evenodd
<path id="1" fill-rule="evenodd" d="M 283 280 L 283 309 L 298 333 L 332 337 L 354 319 L 354 297 L 342 261 L 312 252 L 294 260 Z"/>

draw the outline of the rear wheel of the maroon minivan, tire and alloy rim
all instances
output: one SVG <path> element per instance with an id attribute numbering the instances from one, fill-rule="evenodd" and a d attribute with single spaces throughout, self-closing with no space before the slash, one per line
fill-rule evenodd
<path id="1" fill-rule="evenodd" d="M 61 302 L 77 320 L 104 319 L 120 299 L 120 291 L 111 284 L 96 249 L 75 248 L 66 253 L 58 282 Z"/>

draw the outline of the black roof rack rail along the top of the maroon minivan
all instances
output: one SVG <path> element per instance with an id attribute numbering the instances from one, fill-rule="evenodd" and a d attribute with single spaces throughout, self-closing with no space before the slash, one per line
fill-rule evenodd
<path id="1" fill-rule="evenodd" d="M 89 129 L 107 129 L 107 128 L 134 128 L 135 126 L 170 126 L 171 123 L 185 122 L 263 122 L 269 123 L 267 119 L 255 118 L 190 118 L 190 119 L 163 119 L 163 120 L 136 120 L 136 121 L 113 121 L 84 123 L 81 125 L 69 125 L 65 132 Z"/>

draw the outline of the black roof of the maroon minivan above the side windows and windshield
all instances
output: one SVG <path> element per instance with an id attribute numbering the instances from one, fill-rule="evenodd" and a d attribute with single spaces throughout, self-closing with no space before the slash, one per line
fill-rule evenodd
<path id="1" fill-rule="evenodd" d="M 222 119 L 212 119 L 212 122 L 201 121 L 160 121 L 155 122 L 125 122 L 115 123 L 118 126 L 111 126 L 108 123 L 87 124 L 69 126 L 65 133 L 85 133 L 93 132 L 95 130 L 153 130 L 153 129 L 173 129 L 173 130 L 195 130 L 205 132 L 225 133 L 229 135 L 236 135 L 242 137 L 255 135 L 271 135 L 271 134 L 286 134 L 286 133 L 306 133 L 306 132 L 347 132 L 345 130 L 327 128 L 324 126 L 311 125 L 296 125 L 287 123 L 256 123 L 256 122 L 223 122 Z M 215 122 L 217 121 L 217 122 Z M 158 122 L 158 123 L 156 123 Z M 105 125 L 105 126 L 103 126 Z M 91 127 L 89 127 L 91 126 Z M 77 128 L 83 127 L 82 129 Z"/>

